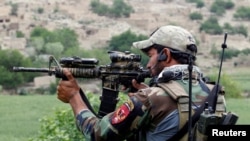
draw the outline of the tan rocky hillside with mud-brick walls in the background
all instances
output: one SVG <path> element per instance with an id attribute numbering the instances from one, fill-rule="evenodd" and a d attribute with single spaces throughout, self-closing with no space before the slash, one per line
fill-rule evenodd
<path id="1" fill-rule="evenodd" d="M 100 0 L 111 5 L 111 0 Z M 235 7 L 226 11 L 219 18 L 220 25 L 230 23 L 231 25 L 244 25 L 250 29 L 249 21 L 237 21 L 233 14 L 239 6 L 250 5 L 248 0 L 232 0 Z M 19 30 L 29 37 L 29 32 L 35 26 L 43 26 L 50 30 L 55 28 L 69 27 L 79 35 L 81 48 L 91 49 L 103 47 L 112 36 L 118 35 L 130 29 L 134 33 L 149 35 L 154 29 L 161 25 L 174 24 L 188 29 L 194 34 L 199 42 L 199 55 L 204 59 L 201 63 L 208 67 L 215 65 L 215 61 L 208 54 L 212 47 L 221 48 L 224 41 L 223 35 L 211 36 L 199 32 L 202 21 L 192 21 L 189 14 L 198 11 L 203 15 L 203 21 L 212 15 L 209 8 L 213 1 L 204 0 L 203 8 L 196 8 L 196 4 L 187 3 L 185 0 L 126 0 L 131 5 L 134 13 L 129 18 L 111 19 L 98 16 L 90 10 L 91 0 L 2 0 L 0 1 L 0 43 L 1 48 L 16 48 L 21 51 L 25 49 L 26 40 L 15 38 L 14 32 Z M 10 16 L 10 3 L 18 4 L 17 16 Z M 44 9 L 38 13 L 37 9 Z M 57 12 L 55 12 L 55 10 Z M 5 28 L 4 28 L 5 27 Z M 227 44 L 229 48 L 250 48 L 249 37 L 243 35 L 229 35 Z M 207 66 L 206 66 L 207 65 Z"/>

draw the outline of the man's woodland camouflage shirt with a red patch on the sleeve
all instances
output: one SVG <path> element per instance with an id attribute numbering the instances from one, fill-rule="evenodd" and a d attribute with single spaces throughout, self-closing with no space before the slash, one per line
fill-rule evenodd
<path id="1" fill-rule="evenodd" d="M 187 81 L 175 81 L 188 93 Z M 193 85 L 192 91 L 193 103 L 198 106 L 207 93 L 197 84 Z M 86 139 L 94 141 L 124 140 L 137 130 L 141 130 L 147 140 L 166 140 L 179 130 L 176 102 L 162 88 L 149 87 L 139 90 L 120 108 L 102 119 L 88 110 L 82 111 L 77 115 L 77 126 Z"/>

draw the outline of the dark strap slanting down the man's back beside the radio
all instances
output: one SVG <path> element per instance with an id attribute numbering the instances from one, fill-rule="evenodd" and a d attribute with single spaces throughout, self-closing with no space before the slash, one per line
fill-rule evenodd
<path id="1" fill-rule="evenodd" d="M 194 113 L 194 115 L 192 116 L 192 127 L 194 127 L 195 123 L 199 120 L 199 117 L 200 117 L 200 114 L 204 111 L 204 107 L 205 107 L 205 103 L 208 102 L 209 105 L 212 104 L 216 104 L 213 102 L 214 100 L 214 97 L 217 96 L 217 85 L 216 84 L 212 91 L 210 91 L 208 89 L 208 87 L 204 84 L 204 82 L 201 82 L 200 83 L 201 85 L 201 88 L 206 91 L 209 95 L 208 97 L 206 98 L 206 100 L 203 102 L 203 104 L 198 107 Z M 218 86 L 218 89 L 220 90 L 220 86 Z M 214 109 L 215 110 L 215 109 Z M 188 121 L 185 123 L 185 125 L 174 135 L 172 136 L 168 141 L 178 141 L 180 140 L 188 131 Z"/>

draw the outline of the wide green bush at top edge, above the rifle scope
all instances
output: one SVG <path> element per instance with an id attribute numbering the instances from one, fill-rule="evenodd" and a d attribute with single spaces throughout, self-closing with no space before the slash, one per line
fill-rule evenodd
<path id="1" fill-rule="evenodd" d="M 130 13 L 133 12 L 133 8 L 123 0 L 113 0 L 111 7 L 101 3 L 99 0 L 92 0 L 90 6 L 94 13 L 112 18 L 129 17 Z"/>

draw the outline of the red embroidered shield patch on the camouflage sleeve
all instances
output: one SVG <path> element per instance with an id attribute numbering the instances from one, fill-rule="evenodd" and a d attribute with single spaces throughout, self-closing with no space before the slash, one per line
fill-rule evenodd
<path id="1" fill-rule="evenodd" d="M 134 104 L 131 100 L 128 100 L 127 102 L 123 103 L 114 112 L 112 119 L 111 119 L 111 123 L 118 124 L 118 123 L 124 121 L 133 109 L 134 109 Z"/>

